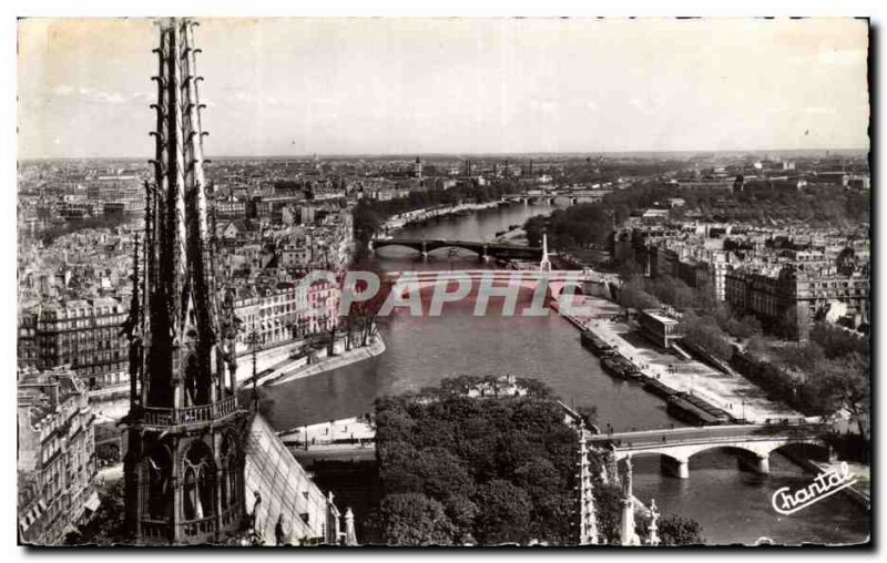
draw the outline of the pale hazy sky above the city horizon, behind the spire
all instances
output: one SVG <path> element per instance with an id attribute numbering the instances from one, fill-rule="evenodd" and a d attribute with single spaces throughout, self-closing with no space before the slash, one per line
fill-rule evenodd
<path id="1" fill-rule="evenodd" d="M 21 157 L 144 156 L 149 20 L 21 20 Z M 203 19 L 208 155 L 868 146 L 867 25 Z"/>

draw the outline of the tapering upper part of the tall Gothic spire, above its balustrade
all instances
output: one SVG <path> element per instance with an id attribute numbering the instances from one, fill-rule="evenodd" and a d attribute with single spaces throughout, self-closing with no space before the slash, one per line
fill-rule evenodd
<path id="1" fill-rule="evenodd" d="M 191 20 L 160 23 L 154 183 L 149 190 L 145 295 L 152 324 L 147 364 L 155 406 L 204 405 L 213 376 L 222 377 L 218 309 L 211 256 L 203 132 Z M 185 391 L 181 389 L 184 386 Z"/>

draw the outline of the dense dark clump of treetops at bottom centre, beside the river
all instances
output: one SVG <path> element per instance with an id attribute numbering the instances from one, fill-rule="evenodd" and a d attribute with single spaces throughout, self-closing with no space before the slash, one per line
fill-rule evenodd
<path id="1" fill-rule="evenodd" d="M 538 382 L 519 379 L 518 386 L 529 390 L 523 396 L 504 389 L 498 396 L 467 395 L 493 380 L 465 376 L 376 401 L 381 541 L 574 542 L 574 430 Z M 402 513 L 394 509 L 405 495 L 422 506 L 440 506 L 440 513 L 437 508 L 410 513 L 424 519 L 416 536 L 391 516 Z"/>

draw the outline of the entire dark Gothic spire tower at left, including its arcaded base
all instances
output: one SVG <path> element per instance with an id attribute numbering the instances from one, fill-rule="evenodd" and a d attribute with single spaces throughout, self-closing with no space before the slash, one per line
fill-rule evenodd
<path id="1" fill-rule="evenodd" d="M 213 273 L 196 22 L 160 22 L 154 181 L 128 324 L 125 501 L 136 543 L 212 543 L 241 528 L 244 453 L 233 314 Z M 227 303 L 227 301 L 226 301 Z"/>

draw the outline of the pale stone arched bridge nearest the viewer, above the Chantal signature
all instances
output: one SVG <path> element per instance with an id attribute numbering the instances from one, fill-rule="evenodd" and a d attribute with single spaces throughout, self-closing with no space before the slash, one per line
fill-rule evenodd
<path id="1" fill-rule="evenodd" d="M 822 427 L 816 424 L 742 424 L 592 434 L 589 443 L 610 450 L 616 461 L 660 455 L 663 472 L 686 479 L 690 458 L 717 448 L 735 451 L 741 467 L 758 473 L 769 472 L 769 454 L 782 448 L 827 460 L 832 450 L 822 433 Z"/>

